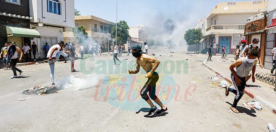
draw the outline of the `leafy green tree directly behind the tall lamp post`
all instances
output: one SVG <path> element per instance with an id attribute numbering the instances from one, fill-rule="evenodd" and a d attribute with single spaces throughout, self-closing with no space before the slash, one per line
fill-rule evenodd
<path id="1" fill-rule="evenodd" d="M 111 37 L 116 38 L 116 26 L 111 30 Z M 126 21 L 120 21 L 117 23 L 117 45 L 127 43 L 129 38 L 129 26 Z"/>

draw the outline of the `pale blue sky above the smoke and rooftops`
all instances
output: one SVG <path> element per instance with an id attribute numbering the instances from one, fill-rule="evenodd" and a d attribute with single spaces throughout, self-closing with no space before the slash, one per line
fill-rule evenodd
<path id="1" fill-rule="evenodd" d="M 178 20 L 191 19 L 190 22 L 195 25 L 217 3 L 238 1 L 250 0 L 118 0 L 117 21 L 125 20 L 129 26 L 150 26 L 158 20 L 154 19 L 158 16 Z M 116 22 L 116 0 L 75 0 L 75 9 L 81 15 L 94 15 Z"/>

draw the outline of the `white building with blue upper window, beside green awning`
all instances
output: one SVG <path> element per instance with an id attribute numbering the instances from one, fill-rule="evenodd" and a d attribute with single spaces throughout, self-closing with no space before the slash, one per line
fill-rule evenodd
<path id="1" fill-rule="evenodd" d="M 74 27 L 74 0 L 30 0 L 30 17 L 30 28 L 41 35 L 31 44 L 34 41 L 38 46 L 37 58 L 45 58 L 45 43 L 52 46 L 63 41 L 64 28 Z"/>

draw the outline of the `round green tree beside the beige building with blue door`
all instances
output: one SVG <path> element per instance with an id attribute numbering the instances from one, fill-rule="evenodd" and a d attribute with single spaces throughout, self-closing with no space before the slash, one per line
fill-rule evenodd
<path id="1" fill-rule="evenodd" d="M 198 51 L 197 44 L 200 42 L 201 38 L 201 29 L 189 29 L 184 34 L 184 39 L 186 40 L 188 45 L 196 44 L 196 52 Z"/>

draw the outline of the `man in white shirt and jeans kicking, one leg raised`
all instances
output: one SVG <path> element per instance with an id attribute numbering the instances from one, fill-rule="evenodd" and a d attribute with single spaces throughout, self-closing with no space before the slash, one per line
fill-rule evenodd
<path id="1" fill-rule="evenodd" d="M 51 69 L 51 74 L 50 74 L 51 81 L 52 81 L 51 87 L 55 87 L 55 77 L 54 77 L 55 62 L 60 58 L 60 55 L 63 55 L 64 57 L 68 57 L 68 53 L 70 53 L 70 51 L 62 52 L 62 47 L 64 45 L 65 44 L 63 41 L 59 41 L 58 44 L 51 46 L 51 48 L 47 53 L 48 64 Z"/>

